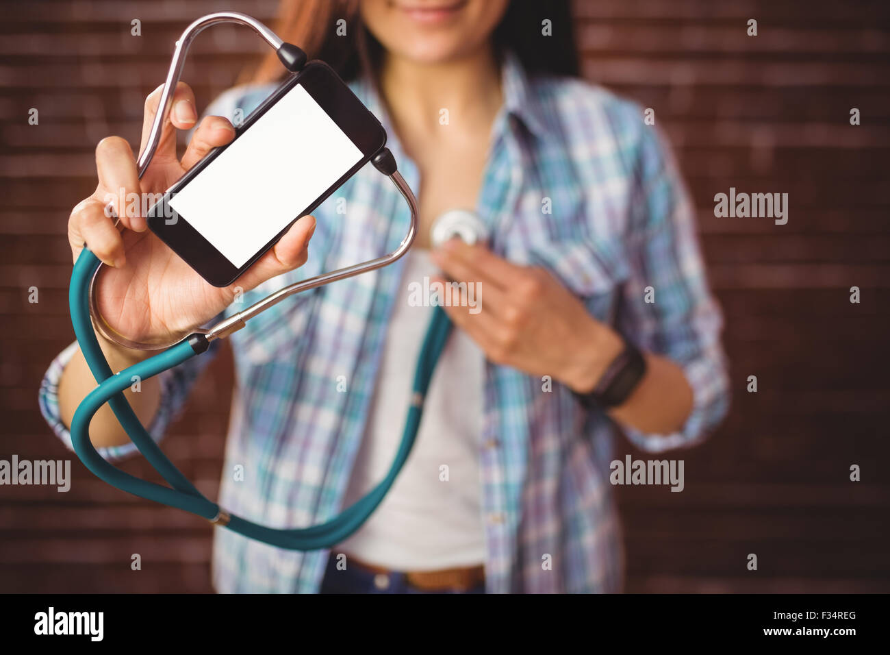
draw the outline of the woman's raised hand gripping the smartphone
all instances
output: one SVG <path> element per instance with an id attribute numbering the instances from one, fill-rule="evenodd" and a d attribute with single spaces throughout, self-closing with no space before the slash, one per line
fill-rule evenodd
<path id="1" fill-rule="evenodd" d="M 145 102 L 142 149 L 158 111 L 162 87 Z M 180 82 L 158 150 L 142 180 L 130 145 L 109 136 L 96 147 L 99 184 L 77 204 L 68 234 L 74 259 L 87 244 L 110 267 L 97 281 L 98 304 L 114 331 L 136 341 L 167 340 L 206 323 L 229 305 L 236 291 L 248 291 L 269 278 L 303 266 L 315 229 L 313 217 L 302 217 L 263 258 L 229 287 L 216 288 L 200 277 L 173 250 L 146 229 L 142 217 L 144 193 L 163 193 L 213 148 L 231 142 L 235 130 L 227 119 L 208 116 L 192 135 L 179 160 L 176 129 L 190 129 L 198 119 L 195 97 Z M 135 194 L 135 195 L 133 195 Z M 134 198 L 139 198 L 134 202 Z M 110 207 L 109 206 L 110 201 Z M 134 210 L 135 209 L 135 210 Z M 112 214 L 112 211 L 114 212 Z M 125 228 L 118 232 L 114 216 Z M 246 217 L 249 218 L 249 217 Z"/>

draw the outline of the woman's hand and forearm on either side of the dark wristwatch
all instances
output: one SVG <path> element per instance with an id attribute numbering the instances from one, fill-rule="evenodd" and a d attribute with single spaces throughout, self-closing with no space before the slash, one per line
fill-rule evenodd
<path id="1" fill-rule="evenodd" d="M 480 284 L 471 307 L 444 307 L 496 364 L 532 375 L 550 375 L 578 393 L 596 387 L 623 343 L 611 328 L 543 268 L 516 266 L 482 246 L 452 239 L 433 259 L 456 282 Z M 439 282 L 446 283 L 444 280 Z M 463 299 L 467 305 L 469 299 Z M 643 353 L 646 374 L 624 404 L 609 411 L 616 421 L 649 434 L 680 430 L 692 412 L 692 387 L 667 357 Z"/>

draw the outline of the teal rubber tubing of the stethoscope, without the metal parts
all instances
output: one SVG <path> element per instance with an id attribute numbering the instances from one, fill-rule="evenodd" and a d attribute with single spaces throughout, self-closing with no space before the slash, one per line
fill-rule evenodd
<path id="1" fill-rule="evenodd" d="M 174 368 L 204 352 L 206 340 L 202 335 L 192 335 L 193 339 L 182 340 L 164 352 L 134 364 L 120 373 L 112 373 L 93 332 L 93 322 L 90 318 L 88 295 L 90 282 L 100 265 L 100 260 L 90 250 L 86 248 L 82 250 L 75 262 L 69 287 L 71 323 L 86 363 L 99 383 L 99 386 L 93 389 L 77 407 L 71 422 L 71 443 L 75 453 L 87 469 L 113 487 L 215 522 L 223 510 L 218 504 L 202 495 L 174 466 L 174 463 L 167 459 L 148 430 L 142 426 L 142 422 L 123 394 L 123 391 L 132 384 L 134 376 L 138 376 L 139 380 L 148 380 L 158 373 Z M 408 459 L 423 413 L 423 398 L 450 331 L 451 322 L 448 315 L 441 307 L 433 307 L 433 318 L 427 328 L 421 354 L 417 360 L 412 402 L 409 405 L 398 451 L 389 472 L 367 495 L 333 519 L 309 528 L 268 528 L 235 515 L 231 515 L 227 524 L 221 523 L 221 525 L 266 544 L 297 551 L 329 548 L 352 535 L 376 510 Z M 96 451 L 90 441 L 89 427 L 93 415 L 105 403 L 109 403 L 134 445 L 171 487 L 163 487 L 120 471 Z"/>

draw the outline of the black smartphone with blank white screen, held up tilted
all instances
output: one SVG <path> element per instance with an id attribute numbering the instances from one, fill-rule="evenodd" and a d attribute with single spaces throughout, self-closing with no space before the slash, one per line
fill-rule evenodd
<path id="1" fill-rule="evenodd" d="M 287 78 L 235 131 L 146 215 L 216 287 L 235 282 L 386 143 L 380 121 L 321 61 Z"/>

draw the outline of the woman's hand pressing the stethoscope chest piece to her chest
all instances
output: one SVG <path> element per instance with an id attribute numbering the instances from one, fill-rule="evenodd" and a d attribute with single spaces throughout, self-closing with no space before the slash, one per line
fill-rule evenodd
<path id="1" fill-rule="evenodd" d="M 451 280 L 479 285 L 474 299 L 481 301 L 481 311 L 471 311 L 465 297 L 460 306 L 452 302 L 444 309 L 492 362 L 550 375 L 585 393 L 619 355 L 618 334 L 589 315 L 545 269 L 516 266 L 459 239 L 432 256 Z"/>

